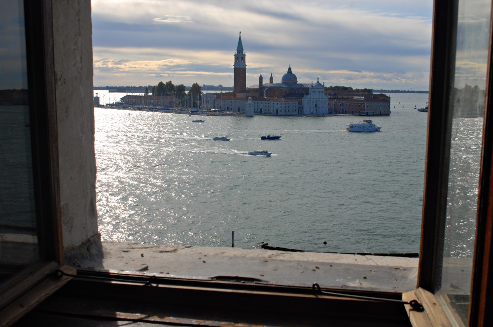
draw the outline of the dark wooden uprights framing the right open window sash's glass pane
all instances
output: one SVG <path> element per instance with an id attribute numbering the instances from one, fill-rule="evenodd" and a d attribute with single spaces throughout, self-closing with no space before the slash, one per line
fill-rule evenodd
<path id="1" fill-rule="evenodd" d="M 493 13 L 493 7 L 491 9 Z M 493 65 L 490 14 L 489 61 L 481 168 L 479 174 L 476 241 L 467 326 L 493 326 Z M 446 218 L 447 184 L 451 143 L 452 108 L 450 94 L 454 87 L 458 0 L 435 0 L 433 10 L 430 93 L 423 194 L 421 252 L 418 291 L 428 291 L 431 302 L 441 287 L 443 240 Z M 436 321 L 435 321 L 436 322 Z"/>

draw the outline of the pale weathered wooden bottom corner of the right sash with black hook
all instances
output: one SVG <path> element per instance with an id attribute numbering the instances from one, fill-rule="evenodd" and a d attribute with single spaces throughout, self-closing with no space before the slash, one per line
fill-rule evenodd
<path id="1" fill-rule="evenodd" d="M 417 300 L 423 305 L 424 310 L 417 311 L 413 309 L 411 305 L 404 304 L 409 320 L 413 326 L 452 327 L 440 303 L 438 303 L 438 300 L 433 293 L 419 288 L 414 291 L 403 293 L 402 300 L 406 302 Z"/>

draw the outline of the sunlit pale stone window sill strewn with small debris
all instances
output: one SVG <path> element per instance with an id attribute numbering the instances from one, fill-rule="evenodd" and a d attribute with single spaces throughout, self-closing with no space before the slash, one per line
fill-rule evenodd
<path id="1" fill-rule="evenodd" d="M 228 276 L 280 286 L 403 293 L 416 289 L 418 258 L 245 250 L 195 246 L 103 243 L 102 262 L 78 262 L 83 269 L 138 272 L 158 277 L 211 280 Z"/>

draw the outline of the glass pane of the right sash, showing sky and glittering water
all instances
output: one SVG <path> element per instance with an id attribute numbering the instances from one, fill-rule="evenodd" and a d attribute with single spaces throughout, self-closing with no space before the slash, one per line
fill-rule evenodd
<path id="1" fill-rule="evenodd" d="M 453 320 L 467 322 L 474 252 L 490 34 L 489 0 L 459 0 L 452 135 L 441 291 Z"/>

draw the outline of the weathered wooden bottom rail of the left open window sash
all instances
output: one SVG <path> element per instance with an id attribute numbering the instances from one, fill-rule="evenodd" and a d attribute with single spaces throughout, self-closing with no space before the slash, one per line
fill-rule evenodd
<path id="1" fill-rule="evenodd" d="M 76 274 L 77 271 L 69 266 L 63 266 L 60 270 L 68 274 Z M 14 300 L 0 311 L 0 326 L 10 326 L 22 318 L 26 313 L 35 308 L 45 298 L 53 294 L 68 281 L 68 276 L 48 275 L 42 282 Z"/>

